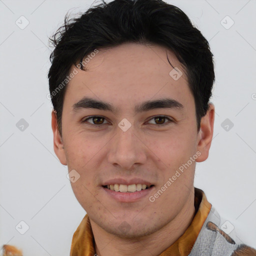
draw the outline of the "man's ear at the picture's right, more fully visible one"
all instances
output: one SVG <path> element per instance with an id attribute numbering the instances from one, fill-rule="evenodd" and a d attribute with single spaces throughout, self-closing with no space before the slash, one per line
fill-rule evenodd
<path id="1" fill-rule="evenodd" d="M 207 113 L 201 118 L 200 130 L 197 134 L 197 151 L 201 154 L 197 157 L 197 162 L 205 161 L 208 158 L 210 144 L 213 136 L 214 105 L 209 103 Z"/>

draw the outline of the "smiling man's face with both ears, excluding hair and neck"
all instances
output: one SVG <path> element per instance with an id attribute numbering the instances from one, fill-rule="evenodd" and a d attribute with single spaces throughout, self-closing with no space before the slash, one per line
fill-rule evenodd
<path id="1" fill-rule="evenodd" d="M 166 54 L 183 73 L 178 79 L 181 73 L 169 74 Z M 205 116 L 197 132 L 184 69 L 159 45 L 99 49 L 86 71 L 73 68 L 62 140 L 52 113 L 55 153 L 79 177 L 71 182 L 73 192 L 105 231 L 123 237 L 153 233 L 193 200 L 195 162 L 207 158 L 213 117 Z"/>

